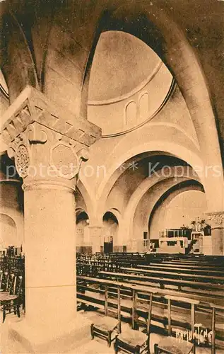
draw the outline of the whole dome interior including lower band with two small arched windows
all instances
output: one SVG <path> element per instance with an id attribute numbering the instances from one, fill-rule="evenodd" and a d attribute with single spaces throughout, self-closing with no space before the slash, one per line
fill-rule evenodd
<path id="1" fill-rule="evenodd" d="M 124 134 L 153 118 L 172 87 L 172 74 L 151 47 L 129 33 L 104 32 L 90 71 L 88 120 L 102 136 Z"/>

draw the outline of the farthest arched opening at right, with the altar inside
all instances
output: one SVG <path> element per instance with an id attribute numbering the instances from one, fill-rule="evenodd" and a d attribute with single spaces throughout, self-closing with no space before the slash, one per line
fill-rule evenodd
<path id="1" fill-rule="evenodd" d="M 206 224 L 206 209 L 201 183 L 188 180 L 173 185 L 155 202 L 148 219 L 151 249 L 159 253 L 189 253 L 196 249 L 202 252 L 202 243 L 191 244 L 191 232 L 194 221 L 204 220 Z"/>

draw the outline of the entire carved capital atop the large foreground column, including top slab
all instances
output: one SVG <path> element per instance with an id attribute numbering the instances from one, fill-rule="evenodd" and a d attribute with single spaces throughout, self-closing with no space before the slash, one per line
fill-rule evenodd
<path id="1" fill-rule="evenodd" d="M 61 109 L 30 86 L 3 119 L 2 139 L 25 184 L 34 180 L 74 184 L 81 161 L 88 160 L 88 148 L 101 136 L 99 127 Z"/>

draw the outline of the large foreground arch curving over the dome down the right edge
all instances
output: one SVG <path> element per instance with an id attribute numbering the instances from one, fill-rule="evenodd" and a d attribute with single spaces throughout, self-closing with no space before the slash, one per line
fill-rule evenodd
<path id="1" fill-rule="evenodd" d="M 141 4 L 129 4 L 128 7 L 123 4 L 113 8 L 109 17 L 110 25 L 106 26 L 106 30 L 124 30 L 136 35 L 150 45 L 170 69 L 194 122 L 204 165 L 218 166 L 218 169 L 223 171 L 211 94 L 199 59 L 182 30 L 164 9 L 146 1 Z M 141 31 L 143 25 L 145 27 Z M 88 77 L 87 74 L 86 79 Z M 211 176 L 208 176 L 207 180 L 208 185 L 213 185 Z M 216 180 L 213 187 L 213 195 L 216 194 L 217 198 L 220 198 L 221 193 L 220 200 L 223 201 L 223 176 Z M 217 202 L 211 200 L 211 210 L 220 210 L 222 207 L 223 205 L 217 205 Z"/>

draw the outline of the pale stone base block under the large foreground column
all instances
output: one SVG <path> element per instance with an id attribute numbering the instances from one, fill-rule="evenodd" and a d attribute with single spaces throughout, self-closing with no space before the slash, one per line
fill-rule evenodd
<path id="1" fill-rule="evenodd" d="M 64 330 L 53 335 L 51 329 L 31 327 L 26 319 L 9 323 L 8 343 L 2 348 L 3 354 L 27 353 L 81 353 L 81 346 L 90 341 L 91 322 L 82 316 L 66 324 Z M 54 324 L 52 324 L 54 326 Z"/>

